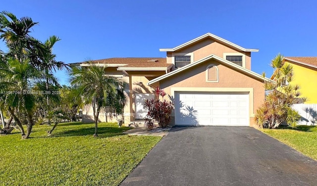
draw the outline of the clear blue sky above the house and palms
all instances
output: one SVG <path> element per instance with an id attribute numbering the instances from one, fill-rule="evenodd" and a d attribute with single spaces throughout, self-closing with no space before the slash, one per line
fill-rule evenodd
<path id="1" fill-rule="evenodd" d="M 5 0 L 0 10 L 29 16 L 32 36 L 61 38 L 53 52 L 65 63 L 109 57 L 165 57 L 210 32 L 252 53 L 252 70 L 267 76 L 270 60 L 317 56 L 314 0 Z M 4 45 L 0 43 L 0 49 Z M 61 84 L 66 72 L 56 73 Z"/>

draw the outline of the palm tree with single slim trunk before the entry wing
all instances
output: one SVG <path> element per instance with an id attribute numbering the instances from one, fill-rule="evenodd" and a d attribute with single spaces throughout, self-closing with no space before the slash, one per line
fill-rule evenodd
<path id="1" fill-rule="evenodd" d="M 124 83 L 117 78 L 106 76 L 106 66 L 99 67 L 91 62 L 88 63 L 90 64 L 88 67 L 72 68 L 70 83 L 78 87 L 78 96 L 82 96 L 85 102 L 92 102 L 95 121 L 94 137 L 97 137 L 100 109 L 106 106 L 108 95 L 117 93 L 117 89 L 123 89 Z"/>

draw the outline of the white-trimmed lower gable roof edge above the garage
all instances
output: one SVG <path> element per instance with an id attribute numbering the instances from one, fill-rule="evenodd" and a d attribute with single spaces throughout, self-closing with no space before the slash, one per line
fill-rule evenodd
<path id="1" fill-rule="evenodd" d="M 198 64 L 201 64 L 201 63 L 203 63 L 203 62 L 205 62 L 205 61 L 207 61 L 207 60 L 210 60 L 210 59 L 215 59 L 215 60 L 219 61 L 220 63 L 223 63 L 223 64 L 226 64 L 226 65 L 228 65 L 228 66 L 231 66 L 231 67 L 233 67 L 233 68 L 235 68 L 235 69 L 237 69 L 237 70 L 239 70 L 239 71 L 242 71 L 242 72 L 244 72 L 244 73 L 246 73 L 246 74 L 249 74 L 251 77 L 253 77 L 253 78 L 255 78 L 255 79 L 273 82 L 272 80 L 270 80 L 270 79 L 268 79 L 268 78 L 263 78 L 263 76 L 260 75 L 260 74 L 257 74 L 257 73 L 255 73 L 255 72 L 253 72 L 253 71 L 251 71 L 251 70 L 248 70 L 248 69 L 246 69 L 246 68 L 244 68 L 244 67 L 242 67 L 242 66 L 239 66 L 239 65 L 237 65 L 237 64 L 235 64 L 235 63 L 232 63 L 232 62 L 230 62 L 230 61 L 228 61 L 228 60 L 225 60 L 225 59 L 223 59 L 223 58 L 221 58 L 221 57 L 218 57 L 218 56 L 216 56 L 216 55 L 211 54 L 211 55 L 209 55 L 209 56 L 207 56 L 207 57 L 205 57 L 205 58 L 203 58 L 203 59 L 200 59 L 200 60 L 198 60 L 198 61 L 195 61 L 195 62 L 193 62 L 193 63 L 190 63 L 190 64 L 188 64 L 188 65 L 186 65 L 186 66 L 184 66 L 184 67 L 182 67 L 182 68 L 176 69 L 176 70 L 171 71 L 171 72 L 169 72 L 169 73 L 167 73 L 167 74 L 164 74 L 164 75 L 162 75 L 162 76 L 159 76 L 159 77 L 157 77 L 157 78 L 155 78 L 155 79 L 149 81 L 147 84 L 148 84 L 148 85 L 151 85 L 151 84 L 153 84 L 153 83 L 159 82 L 159 81 L 161 81 L 161 80 L 163 80 L 163 79 L 166 79 L 166 78 L 168 78 L 168 77 L 174 76 L 174 75 L 176 75 L 176 74 L 178 74 L 178 73 L 180 73 L 180 72 L 182 72 L 182 71 L 184 71 L 184 70 L 187 70 L 187 69 L 189 69 L 189 68 L 192 68 L 192 67 L 194 67 L 194 66 L 196 66 L 196 65 L 198 65 Z"/>

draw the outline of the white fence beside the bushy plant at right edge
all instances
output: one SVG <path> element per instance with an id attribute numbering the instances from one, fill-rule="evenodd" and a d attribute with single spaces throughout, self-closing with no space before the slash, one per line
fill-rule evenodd
<path id="1" fill-rule="evenodd" d="M 294 104 L 292 108 L 301 115 L 299 125 L 317 125 L 317 104 Z"/>

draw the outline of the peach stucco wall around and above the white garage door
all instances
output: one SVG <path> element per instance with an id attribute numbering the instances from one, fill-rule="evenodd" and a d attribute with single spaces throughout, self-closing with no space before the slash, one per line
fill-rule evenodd
<path id="1" fill-rule="evenodd" d="M 217 66 L 219 82 L 206 82 L 206 68 L 210 64 Z M 237 90 L 251 88 L 253 90 L 253 102 L 250 100 L 249 108 L 253 107 L 253 110 L 250 110 L 250 126 L 255 124 L 254 113 L 264 101 L 263 80 L 256 80 L 248 74 L 237 72 L 232 67 L 225 66 L 212 59 L 160 81 L 160 88 L 164 89 L 169 95 L 172 94 L 171 88 L 188 88 L 191 91 L 195 91 L 195 88 L 231 88 L 231 90 L 232 88 L 237 88 Z"/>

